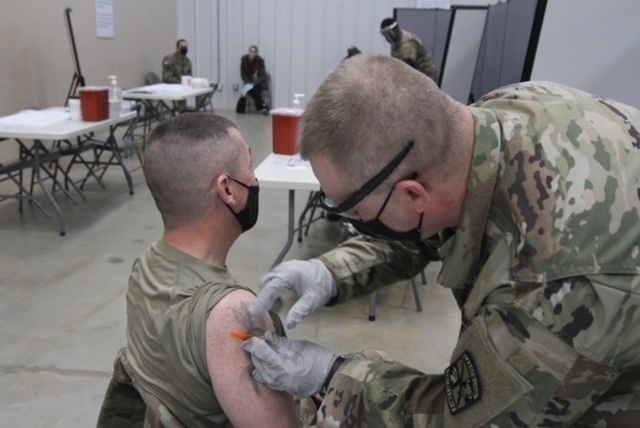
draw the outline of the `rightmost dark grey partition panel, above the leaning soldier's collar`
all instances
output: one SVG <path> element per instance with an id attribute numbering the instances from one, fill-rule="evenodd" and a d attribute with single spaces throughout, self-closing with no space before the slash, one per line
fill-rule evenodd
<path id="1" fill-rule="evenodd" d="M 510 0 L 489 7 L 470 101 L 529 80 L 547 0 Z"/>

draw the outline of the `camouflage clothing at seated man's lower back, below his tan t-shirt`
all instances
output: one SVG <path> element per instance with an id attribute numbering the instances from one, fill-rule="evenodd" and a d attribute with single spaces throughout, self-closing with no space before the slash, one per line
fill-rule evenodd
<path id="1" fill-rule="evenodd" d="M 135 385 L 126 367 L 126 348 L 122 348 L 113 363 L 97 427 L 184 428 L 157 397 Z"/>

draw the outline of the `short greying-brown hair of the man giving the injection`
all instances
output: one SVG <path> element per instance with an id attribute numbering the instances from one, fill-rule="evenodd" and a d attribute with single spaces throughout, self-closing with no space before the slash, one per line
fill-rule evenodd
<path id="1" fill-rule="evenodd" d="M 305 159 L 326 157 L 357 189 L 414 141 L 407 158 L 377 191 L 413 172 L 444 177 L 457 166 L 458 142 L 451 141 L 450 130 L 459 106 L 402 61 L 356 55 L 329 74 L 307 105 L 300 153 Z"/>

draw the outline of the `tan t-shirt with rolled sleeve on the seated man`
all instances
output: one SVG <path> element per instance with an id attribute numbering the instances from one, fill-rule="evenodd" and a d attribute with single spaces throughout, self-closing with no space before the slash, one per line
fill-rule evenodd
<path id="1" fill-rule="evenodd" d="M 231 426 L 211 386 L 206 320 L 228 293 L 249 290 L 227 269 L 204 263 L 164 240 L 134 263 L 127 290 L 132 377 L 185 426 Z M 282 332 L 279 320 L 277 328 Z"/>

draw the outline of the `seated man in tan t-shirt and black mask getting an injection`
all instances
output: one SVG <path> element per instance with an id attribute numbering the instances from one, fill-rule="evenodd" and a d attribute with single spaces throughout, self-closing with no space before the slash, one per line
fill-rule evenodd
<path id="1" fill-rule="evenodd" d="M 193 113 L 160 123 L 144 156 L 164 233 L 133 265 L 127 347 L 98 427 L 297 426 L 293 398 L 257 383 L 241 348 L 246 335 L 283 334 L 280 320 L 249 314 L 255 296 L 226 265 L 258 219 L 249 146 L 231 121 Z M 125 411 L 136 394 L 146 408 Z"/>

